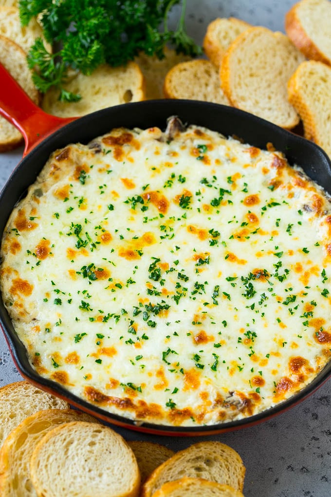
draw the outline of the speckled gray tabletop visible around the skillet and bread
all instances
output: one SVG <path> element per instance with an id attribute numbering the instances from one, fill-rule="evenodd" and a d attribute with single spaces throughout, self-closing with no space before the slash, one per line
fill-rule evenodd
<path id="1" fill-rule="evenodd" d="M 283 31 L 284 14 L 293 3 L 290 0 L 188 0 L 188 31 L 201 43 L 208 22 L 222 16 L 235 16 L 254 25 Z M 177 16 L 178 10 L 174 9 L 172 24 Z M 0 187 L 21 154 L 22 149 L 0 155 Z M 0 386 L 18 379 L 20 376 L 0 333 Z M 127 439 L 158 441 L 175 450 L 202 439 L 227 443 L 245 463 L 246 497 L 331 496 L 330 380 L 290 411 L 258 426 L 223 435 L 160 439 L 124 429 L 118 431 Z"/>

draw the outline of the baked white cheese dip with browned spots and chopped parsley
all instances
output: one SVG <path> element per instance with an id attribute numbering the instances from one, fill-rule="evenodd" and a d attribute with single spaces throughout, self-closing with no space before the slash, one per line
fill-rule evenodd
<path id="1" fill-rule="evenodd" d="M 171 119 L 53 153 L 2 240 L 42 377 L 137 422 L 260 413 L 331 356 L 331 209 L 284 156 Z"/>

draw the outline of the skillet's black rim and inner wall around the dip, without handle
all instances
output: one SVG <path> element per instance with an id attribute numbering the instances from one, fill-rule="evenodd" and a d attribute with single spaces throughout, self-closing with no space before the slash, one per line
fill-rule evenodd
<path id="1" fill-rule="evenodd" d="M 140 115 L 137 116 L 139 112 Z M 141 112 L 144 112 L 144 114 L 141 114 Z M 302 161 L 308 162 L 309 166 L 310 158 L 312 157 L 314 161 L 316 161 L 316 164 L 310 164 L 312 167 L 311 172 L 313 174 L 308 175 L 321 185 L 318 176 L 319 174 L 322 174 L 322 183 L 324 183 L 322 186 L 324 186 L 327 192 L 331 193 L 331 161 L 327 154 L 315 143 L 279 128 L 260 117 L 235 107 L 196 100 L 168 99 L 133 102 L 102 109 L 72 121 L 45 138 L 45 140 L 38 144 L 22 159 L 13 170 L 0 193 L 0 209 L 1 212 L 5 214 L 2 215 L 0 219 L 0 238 L 2 239 L 7 219 L 16 202 L 20 200 L 24 190 L 35 181 L 37 174 L 45 165 L 51 152 L 58 148 L 65 147 L 69 143 L 77 142 L 78 140 L 82 143 L 87 143 L 96 136 L 107 133 L 107 131 L 110 131 L 110 129 L 114 127 L 124 126 L 132 129 L 134 127 L 144 128 L 159 126 L 164 128 L 166 118 L 174 114 L 178 115 L 184 122 L 204 126 L 223 133 L 226 136 L 235 134 L 244 138 L 246 143 L 259 148 L 265 148 L 267 143 L 265 140 L 268 138 L 267 141 L 271 142 L 276 150 L 284 152 L 290 164 L 298 163 L 304 169 L 305 165 Z M 192 117 L 194 120 L 191 119 Z M 110 121 L 114 121 L 113 124 L 108 124 L 109 119 Z M 212 121 L 211 123 L 210 120 Z M 223 121 L 225 121 L 225 123 Z M 93 131 L 89 128 L 89 124 L 91 123 L 93 124 Z M 233 126 L 235 126 L 234 130 L 231 129 Z M 227 129 L 232 132 L 226 132 L 224 127 L 227 127 Z M 239 130 L 239 133 L 234 133 L 236 130 Z M 244 132 L 245 137 L 242 132 Z M 78 139 L 75 138 L 76 135 L 78 135 Z M 318 161 L 320 162 L 318 163 Z M 319 166 L 322 165 L 320 170 L 318 170 L 317 164 Z M 34 176 L 34 179 L 27 179 L 32 176 Z M 17 184 L 19 185 L 19 191 L 15 194 Z M 71 392 L 67 391 L 60 383 L 43 378 L 37 374 L 29 364 L 26 349 L 13 329 L 11 320 L 2 302 L 2 296 L 0 298 L 0 325 L 18 371 L 25 379 L 35 386 L 65 399 L 69 404 L 72 404 L 83 411 L 87 411 L 92 415 L 94 414 L 107 423 L 158 435 L 211 435 L 254 425 L 269 419 L 276 414 L 280 414 L 290 407 L 294 407 L 317 390 L 331 376 L 330 361 L 311 383 L 289 399 L 276 404 L 261 413 L 243 419 L 199 426 L 172 426 L 158 423 L 140 423 L 140 421 L 136 422 L 125 416 L 109 413 L 97 405 L 71 394 Z"/>

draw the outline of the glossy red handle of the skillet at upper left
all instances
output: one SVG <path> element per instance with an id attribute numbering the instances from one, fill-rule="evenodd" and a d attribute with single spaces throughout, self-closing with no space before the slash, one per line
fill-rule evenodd
<path id="1" fill-rule="evenodd" d="M 22 133 L 25 141 L 23 157 L 46 136 L 77 119 L 56 117 L 44 112 L 29 98 L 2 64 L 0 83 L 0 114 Z"/>

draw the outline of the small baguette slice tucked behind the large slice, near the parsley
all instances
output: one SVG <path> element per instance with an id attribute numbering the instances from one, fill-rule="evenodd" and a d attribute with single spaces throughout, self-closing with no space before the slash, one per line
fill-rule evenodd
<path id="1" fill-rule="evenodd" d="M 207 26 L 203 49 L 208 59 L 219 68 L 223 55 L 243 31 L 252 27 L 236 17 L 219 17 Z"/>

